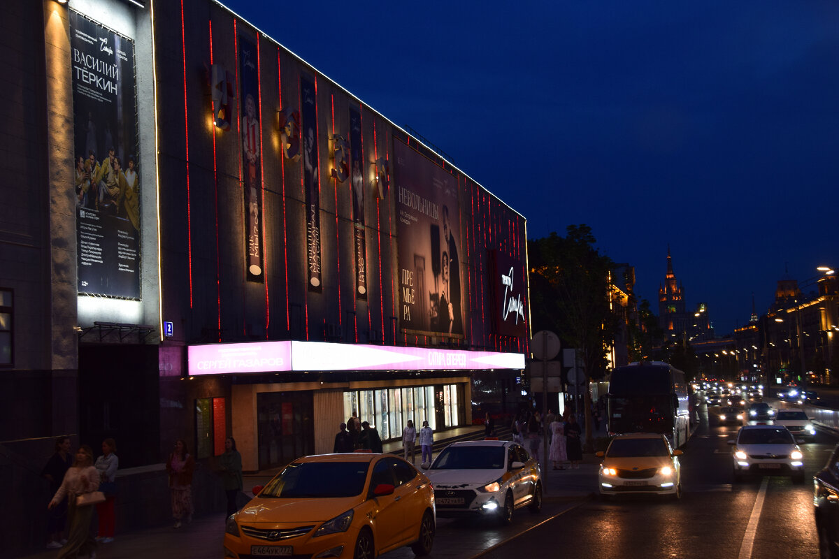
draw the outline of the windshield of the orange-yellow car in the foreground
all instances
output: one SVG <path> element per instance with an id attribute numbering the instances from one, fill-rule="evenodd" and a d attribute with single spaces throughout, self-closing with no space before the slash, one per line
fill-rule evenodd
<path id="1" fill-rule="evenodd" d="M 268 482 L 260 497 L 323 499 L 361 494 L 369 462 L 302 462 L 289 464 Z"/>

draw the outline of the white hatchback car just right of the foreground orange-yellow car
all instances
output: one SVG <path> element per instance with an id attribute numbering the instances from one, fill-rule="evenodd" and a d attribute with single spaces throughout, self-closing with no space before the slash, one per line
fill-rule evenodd
<path id="1" fill-rule="evenodd" d="M 513 510 L 542 510 L 539 463 L 513 441 L 451 443 L 425 470 L 434 485 L 438 517 L 487 515 L 502 524 Z"/>

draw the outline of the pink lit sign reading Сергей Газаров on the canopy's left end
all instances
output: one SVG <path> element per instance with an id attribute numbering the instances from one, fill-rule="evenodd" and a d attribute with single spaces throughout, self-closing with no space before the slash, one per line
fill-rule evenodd
<path id="1" fill-rule="evenodd" d="M 190 345 L 190 375 L 291 370 L 291 342 Z"/>

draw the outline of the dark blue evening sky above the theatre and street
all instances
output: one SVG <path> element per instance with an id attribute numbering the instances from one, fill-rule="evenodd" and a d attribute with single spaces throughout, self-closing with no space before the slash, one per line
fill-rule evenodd
<path id="1" fill-rule="evenodd" d="M 839 266 L 839 3 L 226 5 L 528 219 L 585 223 L 717 334 Z"/>

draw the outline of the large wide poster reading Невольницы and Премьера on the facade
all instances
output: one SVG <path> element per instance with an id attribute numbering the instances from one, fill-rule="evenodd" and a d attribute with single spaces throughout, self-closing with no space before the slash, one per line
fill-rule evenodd
<path id="1" fill-rule="evenodd" d="M 463 334 L 457 179 L 393 142 L 402 328 Z"/>

